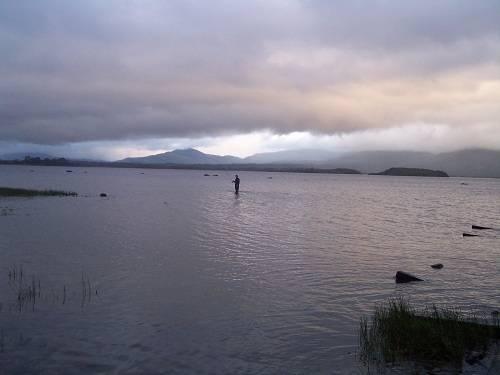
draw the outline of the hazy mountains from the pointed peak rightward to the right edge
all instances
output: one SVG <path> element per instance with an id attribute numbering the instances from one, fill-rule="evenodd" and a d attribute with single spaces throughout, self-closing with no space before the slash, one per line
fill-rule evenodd
<path id="1" fill-rule="evenodd" d="M 500 178 L 500 151 L 471 149 L 440 154 L 412 151 L 363 151 L 336 153 L 296 150 L 261 153 L 247 158 L 218 156 L 195 149 L 174 150 L 158 155 L 127 158 L 118 163 L 170 165 L 280 164 L 314 168 L 350 168 L 378 173 L 393 167 L 442 170 L 450 176 Z"/>

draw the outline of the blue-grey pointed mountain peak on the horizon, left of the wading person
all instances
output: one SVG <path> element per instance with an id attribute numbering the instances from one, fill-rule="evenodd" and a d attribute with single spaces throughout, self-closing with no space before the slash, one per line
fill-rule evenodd
<path id="1" fill-rule="evenodd" d="M 205 154 L 193 148 L 174 150 L 138 158 L 126 158 L 118 161 L 118 163 L 137 164 L 236 164 L 241 162 L 242 159 L 236 156 Z"/>

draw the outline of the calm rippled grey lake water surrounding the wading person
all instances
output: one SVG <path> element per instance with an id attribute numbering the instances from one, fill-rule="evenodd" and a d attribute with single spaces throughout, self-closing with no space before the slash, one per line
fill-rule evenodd
<path id="1" fill-rule="evenodd" d="M 500 231 L 462 237 L 500 228 L 500 180 L 66 169 L 0 166 L 79 193 L 0 198 L 2 373 L 357 374 L 388 297 L 500 308 Z"/>

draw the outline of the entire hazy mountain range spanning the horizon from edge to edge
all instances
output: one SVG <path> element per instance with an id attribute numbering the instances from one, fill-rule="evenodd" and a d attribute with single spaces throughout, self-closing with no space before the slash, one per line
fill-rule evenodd
<path id="1" fill-rule="evenodd" d="M 25 161 L 30 156 L 33 160 Z M 36 158 L 40 158 L 36 160 Z M 51 160 L 48 160 L 51 159 Z M 17 161 L 13 161 L 17 160 Z M 2 164 L 74 165 L 106 167 L 270 170 L 322 173 L 380 173 L 390 168 L 444 171 L 449 176 L 500 178 L 500 151 L 470 149 L 432 154 L 412 151 L 363 151 L 338 153 L 294 150 L 255 154 L 246 158 L 205 154 L 195 149 L 126 158 L 116 162 L 59 159 L 41 153 L 0 156 Z"/>

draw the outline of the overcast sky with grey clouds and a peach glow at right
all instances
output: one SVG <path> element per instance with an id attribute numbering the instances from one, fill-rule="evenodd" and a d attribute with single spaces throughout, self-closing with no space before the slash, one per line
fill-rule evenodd
<path id="1" fill-rule="evenodd" d="M 500 149 L 498 0 L 2 0 L 0 153 Z"/>

